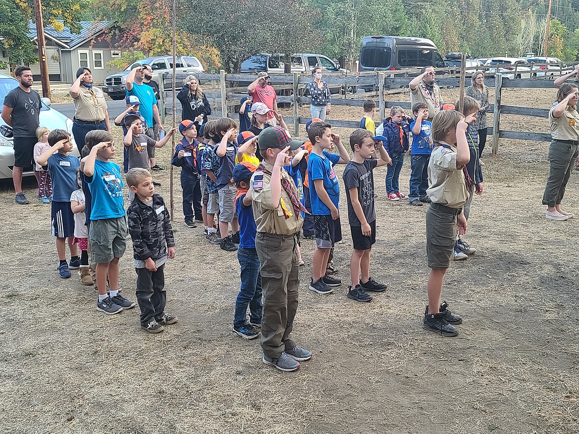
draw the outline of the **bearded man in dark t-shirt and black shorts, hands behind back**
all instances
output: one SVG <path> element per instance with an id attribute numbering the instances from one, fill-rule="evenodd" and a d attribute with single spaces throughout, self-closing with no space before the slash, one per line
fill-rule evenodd
<path id="1" fill-rule="evenodd" d="M 36 128 L 39 126 L 39 115 L 42 102 L 40 95 L 32 86 L 32 71 L 28 67 L 17 67 L 14 76 L 18 87 L 9 91 L 2 105 L 2 120 L 12 127 L 14 132 L 14 167 L 12 181 L 16 192 L 16 203 L 26 205 L 28 199 L 22 192 L 22 172 L 32 168 Z M 31 169 L 32 170 L 32 169 Z"/>

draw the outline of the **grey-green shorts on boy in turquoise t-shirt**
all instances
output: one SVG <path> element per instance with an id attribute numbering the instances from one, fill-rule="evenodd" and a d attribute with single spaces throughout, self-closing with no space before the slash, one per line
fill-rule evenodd
<path id="1" fill-rule="evenodd" d="M 89 229 L 93 261 L 107 264 L 113 258 L 121 258 L 127 248 L 126 216 L 112 219 L 91 220 Z"/>

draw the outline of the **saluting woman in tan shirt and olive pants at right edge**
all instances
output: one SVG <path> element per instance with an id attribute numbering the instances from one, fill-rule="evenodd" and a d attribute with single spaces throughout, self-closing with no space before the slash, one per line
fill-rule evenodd
<path id="1" fill-rule="evenodd" d="M 573 213 L 561 208 L 561 200 L 573 161 L 577 159 L 579 143 L 579 113 L 577 113 L 577 84 L 563 83 L 557 93 L 558 104 L 549 112 L 551 146 L 549 146 L 549 178 L 543 195 L 549 220 L 567 220 Z"/>

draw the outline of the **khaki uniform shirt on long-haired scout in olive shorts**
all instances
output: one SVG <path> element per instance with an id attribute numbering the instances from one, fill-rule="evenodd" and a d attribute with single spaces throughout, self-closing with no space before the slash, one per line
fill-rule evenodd
<path id="1" fill-rule="evenodd" d="M 450 208 L 462 208 L 467 203 L 464 172 L 462 167 L 456 167 L 456 145 L 450 145 L 450 149 L 444 146 L 434 148 L 428 163 L 426 194 L 433 203 Z"/>

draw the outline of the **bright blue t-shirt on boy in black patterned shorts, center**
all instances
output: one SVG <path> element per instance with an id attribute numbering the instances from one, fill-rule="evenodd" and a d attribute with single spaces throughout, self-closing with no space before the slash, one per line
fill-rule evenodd
<path id="1" fill-rule="evenodd" d="M 310 182 L 310 201 L 312 202 L 313 215 L 330 215 L 329 208 L 321 201 L 316 192 L 314 181 L 316 179 L 324 180 L 324 189 L 328 192 L 328 196 L 334 206 L 338 208 L 340 201 L 340 186 L 338 185 L 338 176 L 334 171 L 334 165 L 338 163 L 340 156 L 329 153 L 324 150 L 323 156 L 310 154 L 307 161 L 307 179 Z"/>

